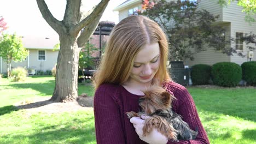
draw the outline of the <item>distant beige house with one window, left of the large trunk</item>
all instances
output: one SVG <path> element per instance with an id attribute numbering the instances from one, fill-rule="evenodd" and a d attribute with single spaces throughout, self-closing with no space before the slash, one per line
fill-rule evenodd
<path id="1" fill-rule="evenodd" d="M 28 50 L 27 58 L 22 62 L 11 62 L 11 68 L 24 67 L 33 69 L 29 74 L 33 75 L 36 70 L 51 70 L 57 63 L 59 50 L 53 50 L 59 43 L 59 37 L 32 37 L 23 36 L 22 43 Z M 7 64 L 0 58 L 0 73 L 7 73 Z"/>

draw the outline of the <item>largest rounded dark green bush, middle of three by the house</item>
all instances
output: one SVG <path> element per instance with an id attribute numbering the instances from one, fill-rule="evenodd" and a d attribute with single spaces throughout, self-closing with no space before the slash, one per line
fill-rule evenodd
<path id="1" fill-rule="evenodd" d="M 235 87 L 242 79 L 242 68 L 231 62 L 220 62 L 212 65 L 212 81 L 214 85 Z"/>

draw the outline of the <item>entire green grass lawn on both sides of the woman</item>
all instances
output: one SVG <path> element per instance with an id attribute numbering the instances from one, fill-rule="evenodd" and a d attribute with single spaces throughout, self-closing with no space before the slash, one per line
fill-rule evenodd
<path id="1" fill-rule="evenodd" d="M 93 109 L 66 113 L 27 113 L 14 103 L 50 97 L 53 77 L 26 82 L 0 79 L 0 143 L 96 143 Z M 189 87 L 211 143 L 256 143 L 256 89 Z M 94 95 L 91 86 L 78 93 Z"/>

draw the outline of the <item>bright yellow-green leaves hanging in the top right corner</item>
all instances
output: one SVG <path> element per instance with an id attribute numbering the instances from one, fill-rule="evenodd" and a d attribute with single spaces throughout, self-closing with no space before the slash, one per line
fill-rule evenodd
<path id="1" fill-rule="evenodd" d="M 253 15 L 256 14 L 256 0 L 219 0 L 220 5 L 226 6 L 231 2 L 238 1 L 237 5 L 243 7 L 242 12 L 246 13 L 246 21 L 255 22 Z"/>

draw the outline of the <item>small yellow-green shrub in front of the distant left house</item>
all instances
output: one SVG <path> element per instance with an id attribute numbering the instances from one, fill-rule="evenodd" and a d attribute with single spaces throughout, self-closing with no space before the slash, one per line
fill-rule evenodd
<path id="1" fill-rule="evenodd" d="M 27 70 L 25 68 L 14 68 L 11 70 L 11 78 L 14 81 L 25 81 L 27 78 Z"/>

